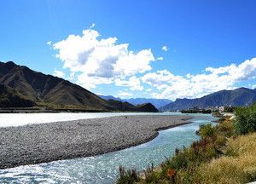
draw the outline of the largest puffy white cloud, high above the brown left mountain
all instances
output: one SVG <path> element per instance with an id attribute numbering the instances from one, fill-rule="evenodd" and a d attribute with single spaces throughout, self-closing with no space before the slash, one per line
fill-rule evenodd
<path id="1" fill-rule="evenodd" d="M 117 43 L 116 37 L 100 37 L 99 32 L 87 29 L 82 36 L 69 35 L 53 45 L 63 67 L 80 73 L 78 83 L 85 88 L 151 70 L 150 62 L 155 60 L 151 49 L 135 53 L 128 43 Z"/>

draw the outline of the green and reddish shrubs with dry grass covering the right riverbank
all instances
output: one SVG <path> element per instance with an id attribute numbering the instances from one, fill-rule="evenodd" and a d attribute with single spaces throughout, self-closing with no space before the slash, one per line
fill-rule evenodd
<path id="1" fill-rule="evenodd" d="M 147 170 L 119 167 L 117 183 L 247 183 L 256 181 L 256 104 L 238 107 L 236 118 L 201 125 L 190 147 Z"/>

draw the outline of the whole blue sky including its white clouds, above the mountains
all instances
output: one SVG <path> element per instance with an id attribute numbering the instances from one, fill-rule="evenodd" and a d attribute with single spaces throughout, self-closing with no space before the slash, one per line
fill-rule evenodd
<path id="1" fill-rule="evenodd" d="M 2 1 L 0 60 L 125 98 L 254 88 L 255 8 L 253 0 Z"/>

